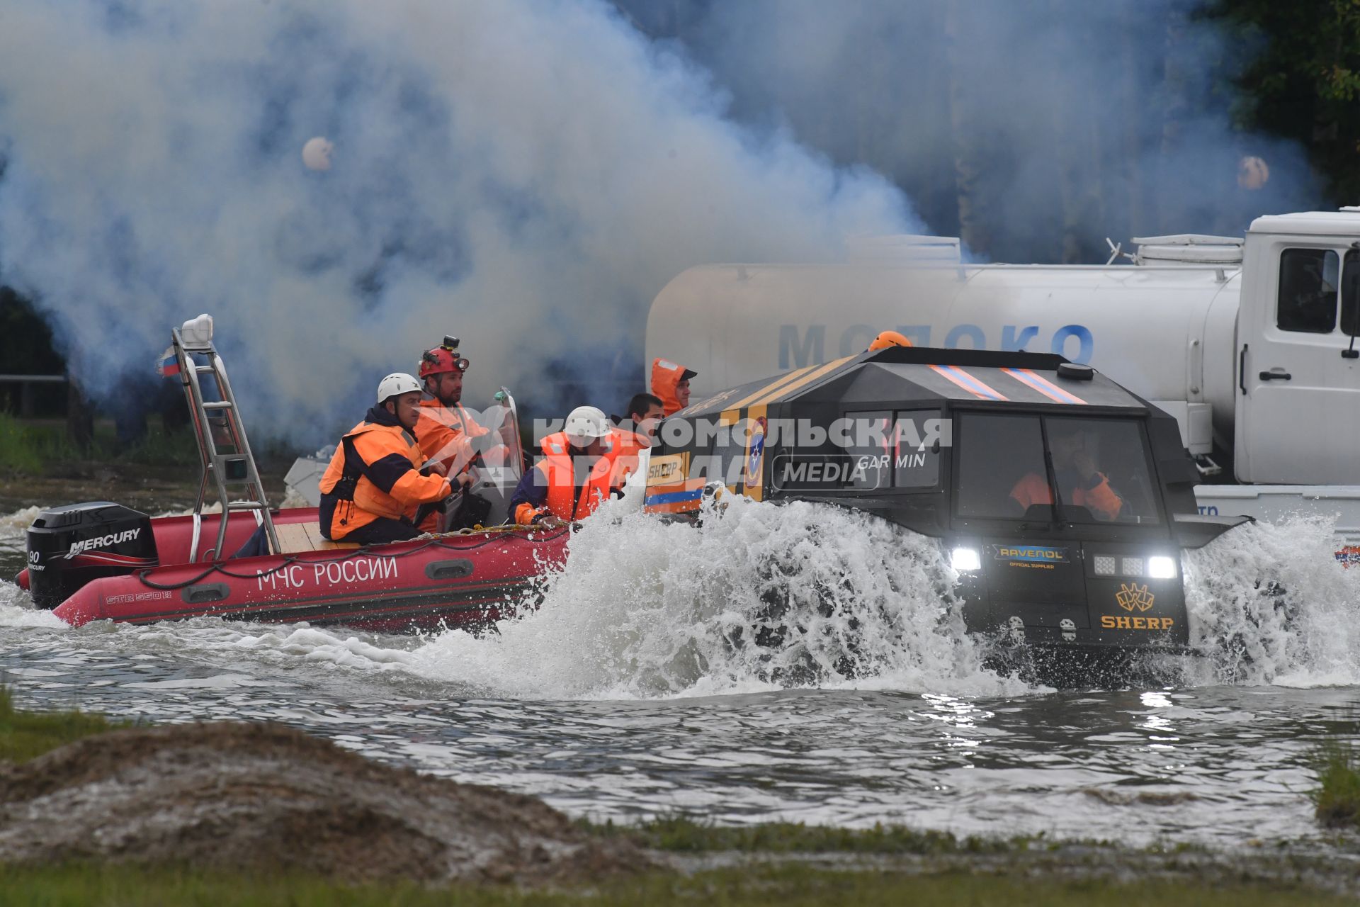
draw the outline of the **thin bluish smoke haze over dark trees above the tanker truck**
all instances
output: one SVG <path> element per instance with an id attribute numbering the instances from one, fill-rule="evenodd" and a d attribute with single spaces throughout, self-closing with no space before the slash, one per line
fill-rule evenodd
<path id="1" fill-rule="evenodd" d="M 707 67 L 733 116 L 879 169 L 934 231 L 959 234 L 971 162 L 963 235 L 991 260 L 1091 264 L 1104 237 L 1240 235 L 1321 201 L 1297 144 L 1234 125 L 1255 48 L 1208 0 L 616 1 Z M 1269 182 L 1239 185 L 1244 156 Z"/>

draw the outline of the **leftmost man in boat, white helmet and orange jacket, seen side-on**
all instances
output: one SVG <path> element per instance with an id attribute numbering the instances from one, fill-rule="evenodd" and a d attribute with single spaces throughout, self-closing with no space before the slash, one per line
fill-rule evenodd
<path id="1" fill-rule="evenodd" d="M 422 469 L 424 457 L 411 430 L 420 411 L 420 385 L 390 374 L 378 385 L 378 404 L 336 447 L 321 477 L 321 534 L 364 545 L 415 538 L 422 504 L 453 492 L 445 469 Z M 464 480 L 465 481 L 465 480 Z"/>

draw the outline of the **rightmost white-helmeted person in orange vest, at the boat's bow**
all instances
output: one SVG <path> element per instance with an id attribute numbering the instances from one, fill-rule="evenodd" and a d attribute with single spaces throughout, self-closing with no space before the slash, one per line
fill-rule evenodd
<path id="1" fill-rule="evenodd" d="M 609 498 L 609 419 L 594 407 L 577 407 L 562 431 L 539 446 L 543 458 L 524 473 L 510 496 L 520 525 L 583 519 Z"/>

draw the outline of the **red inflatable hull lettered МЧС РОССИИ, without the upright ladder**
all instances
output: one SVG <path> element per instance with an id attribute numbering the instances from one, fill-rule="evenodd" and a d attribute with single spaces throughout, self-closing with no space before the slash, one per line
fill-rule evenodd
<path id="1" fill-rule="evenodd" d="M 44 583 L 33 582 L 35 572 L 24 570 L 18 578 L 24 589 L 38 586 L 34 600 L 46 606 L 56 604 L 50 596 L 73 587 L 56 604 L 56 615 L 75 626 L 205 616 L 385 632 L 483 626 L 507 609 L 532 605 L 534 579 L 564 562 L 570 534 L 498 528 L 360 548 L 321 538 L 317 511 L 299 509 L 272 514 L 282 553 L 190 562 L 192 515 L 147 519 L 118 504 L 75 504 L 46 511 L 30 532 L 76 514 L 83 519 L 53 529 L 88 526 L 91 513 L 103 517 L 97 525 L 105 528 L 128 518 L 143 525 L 86 532 L 84 540 L 69 543 L 78 547 L 73 556 L 67 538 L 50 558 L 35 559 L 30 545 L 30 568 L 64 571 L 65 582 L 48 590 L 46 601 L 38 601 Z M 214 538 L 219 521 L 219 514 L 204 514 L 199 536 Z M 254 528 L 254 521 L 228 521 L 224 549 L 243 545 Z M 151 558 L 109 551 L 143 543 L 147 529 L 155 544 L 141 551 L 155 552 Z M 147 566 L 148 560 L 162 566 Z"/>

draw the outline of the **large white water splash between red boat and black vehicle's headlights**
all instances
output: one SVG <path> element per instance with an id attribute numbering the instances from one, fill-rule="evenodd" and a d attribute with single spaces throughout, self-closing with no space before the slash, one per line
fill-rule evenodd
<path id="1" fill-rule="evenodd" d="M 933 540 L 838 507 L 737 498 L 698 529 L 600 517 L 537 611 L 432 638 L 408 668 L 533 698 L 1027 689 L 982 666 L 953 581 Z"/>

